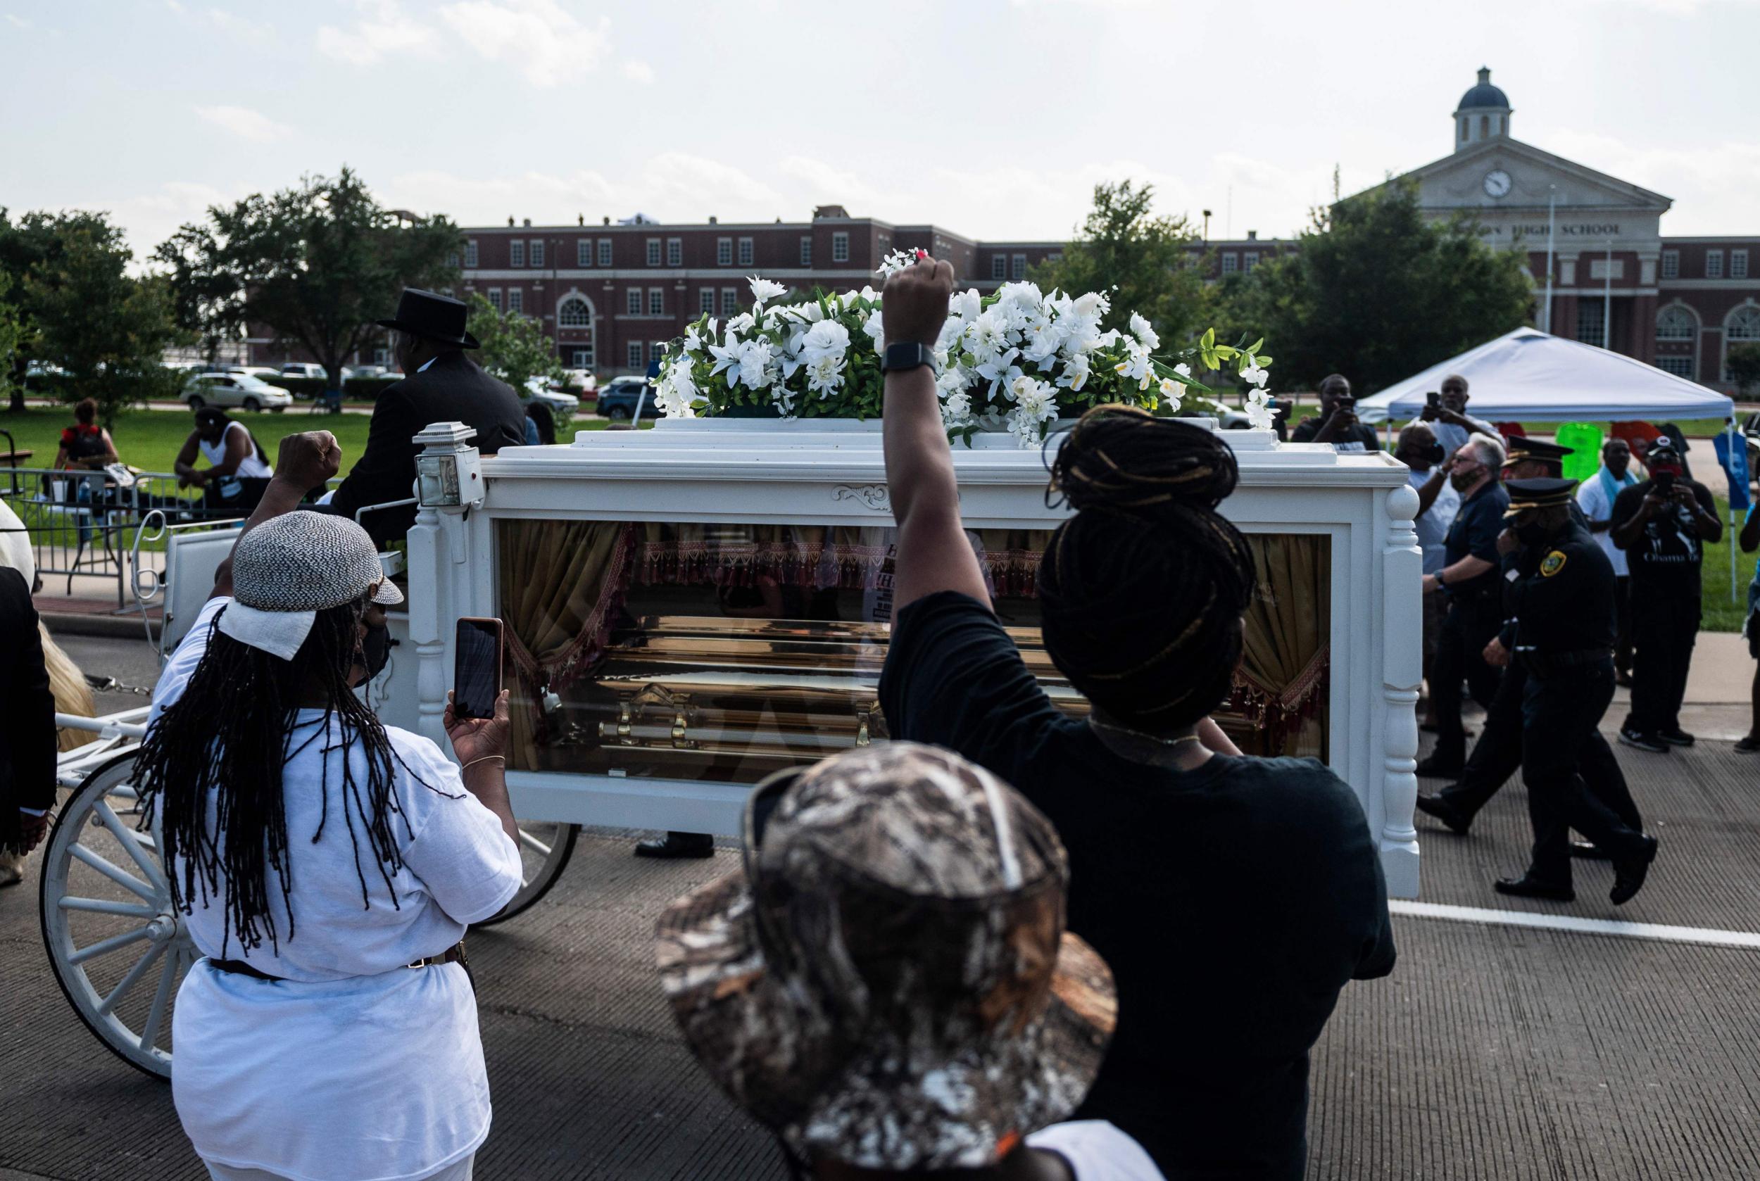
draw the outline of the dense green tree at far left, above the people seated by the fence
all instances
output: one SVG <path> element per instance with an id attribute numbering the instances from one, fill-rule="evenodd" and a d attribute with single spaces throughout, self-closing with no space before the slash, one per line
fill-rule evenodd
<path id="1" fill-rule="evenodd" d="M 128 403 L 176 391 L 162 361 L 188 340 L 172 317 L 165 278 L 136 278 L 130 262 L 120 229 L 102 216 L 76 216 L 60 225 L 56 250 L 32 264 L 23 285 L 35 356 L 72 375 L 56 394 L 95 398 L 106 426 Z"/>

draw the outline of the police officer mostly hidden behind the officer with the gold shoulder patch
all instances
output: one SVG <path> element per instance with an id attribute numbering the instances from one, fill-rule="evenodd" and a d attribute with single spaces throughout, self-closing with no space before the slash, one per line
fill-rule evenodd
<path id="1" fill-rule="evenodd" d="M 1570 447 L 1519 435 L 1512 435 L 1508 445 L 1510 454 L 1503 461 L 1505 480 L 1559 479 L 1565 456 L 1573 454 Z M 1588 521 L 1575 502 L 1572 503 L 1572 517 L 1588 530 Z M 1510 660 L 1515 644 L 1512 577 L 1519 577 L 1521 554 L 1512 533 L 1500 539 L 1500 549 L 1507 551 L 1501 563 L 1505 627 L 1485 648 L 1485 662 L 1503 669 L 1498 693 L 1492 697 L 1491 708 L 1485 709 L 1485 729 L 1480 732 L 1478 743 L 1473 745 L 1473 753 L 1468 757 L 1459 781 L 1434 796 L 1419 796 L 1419 811 L 1436 817 L 1461 836 L 1471 829 L 1478 810 L 1491 803 L 1491 797 L 1522 766 L 1522 688 L 1528 683 L 1528 674 L 1521 664 Z M 1584 750 L 1582 774 L 1596 799 L 1607 804 L 1628 827 L 1644 827 L 1637 803 L 1626 787 L 1626 776 L 1619 769 L 1619 760 L 1614 759 L 1614 748 L 1609 746 L 1600 730 L 1589 737 Z M 1603 855 L 1588 841 L 1572 841 L 1570 852 L 1573 857 Z"/>

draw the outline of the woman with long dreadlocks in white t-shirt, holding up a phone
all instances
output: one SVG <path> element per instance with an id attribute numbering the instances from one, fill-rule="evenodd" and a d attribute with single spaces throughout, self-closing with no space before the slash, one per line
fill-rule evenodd
<path id="1" fill-rule="evenodd" d="M 454 1181 L 489 1132 L 459 940 L 519 889 L 507 704 L 447 709 L 456 767 L 356 697 L 401 595 L 361 526 L 290 512 L 336 458 L 327 433 L 283 440 L 153 693 L 137 781 L 204 954 L 172 1097 L 222 1181 Z"/>

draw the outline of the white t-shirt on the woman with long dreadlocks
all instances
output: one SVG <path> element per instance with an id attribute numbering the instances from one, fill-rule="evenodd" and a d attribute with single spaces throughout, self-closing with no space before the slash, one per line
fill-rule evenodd
<path id="1" fill-rule="evenodd" d="M 183 695 L 229 602 L 211 600 L 165 664 L 151 720 Z M 394 727 L 385 734 L 401 759 L 392 760 L 398 869 L 373 857 L 363 804 L 343 797 L 343 759 L 364 785 L 364 750 L 345 746 L 322 711 L 301 709 L 282 771 L 289 903 L 269 871 L 278 947 L 239 947 L 220 898 L 188 899 L 185 924 L 204 956 L 282 977 L 202 959 L 178 991 L 172 1098 L 204 1158 L 299 1181 L 410 1181 L 463 1160 L 489 1133 L 470 980 L 459 965 L 405 965 L 444 952 L 465 924 L 505 906 L 519 889 L 519 850 L 438 746 Z"/>

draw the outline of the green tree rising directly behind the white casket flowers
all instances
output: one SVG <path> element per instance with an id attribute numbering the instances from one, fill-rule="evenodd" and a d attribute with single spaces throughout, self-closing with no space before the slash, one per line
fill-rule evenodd
<path id="1" fill-rule="evenodd" d="M 1204 278 L 1192 266 L 1197 234 L 1183 216 L 1155 216 L 1153 185 L 1095 185 L 1095 204 L 1061 259 L 1033 268 L 1044 290 L 1104 290 L 1112 297 L 1105 327 L 1126 327 L 1130 313 L 1144 315 L 1169 345 L 1204 327 Z M 1116 289 L 1116 290 L 1114 290 Z M 1278 341 L 1271 341 L 1276 348 Z M 1278 348 L 1281 352 L 1281 348 Z"/>

